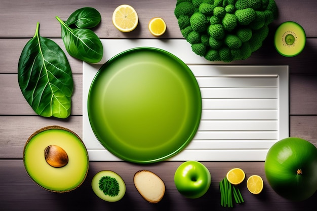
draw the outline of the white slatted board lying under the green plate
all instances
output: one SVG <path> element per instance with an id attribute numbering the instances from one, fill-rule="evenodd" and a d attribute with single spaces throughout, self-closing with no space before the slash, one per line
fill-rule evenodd
<path id="1" fill-rule="evenodd" d="M 87 113 L 89 87 L 101 64 L 135 47 L 160 48 L 179 57 L 201 89 L 199 130 L 168 160 L 265 160 L 269 147 L 289 136 L 288 66 L 216 65 L 192 53 L 185 40 L 102 41 L 105 55 L 100 64 L 83 64 L 83 141 L 90 160 L 120 159 L 93 134 Z"/>

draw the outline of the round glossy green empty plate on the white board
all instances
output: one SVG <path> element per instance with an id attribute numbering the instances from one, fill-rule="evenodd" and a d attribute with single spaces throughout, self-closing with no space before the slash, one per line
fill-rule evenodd
<path id="1" fill-rule="evenodd" d="M 136 163 L 164 160 L 184 149 L 202 113 L 188 66 L 171 53 L 135 48 L 106 62 L 92 81 L 88 116 L 99 142 Z"/>

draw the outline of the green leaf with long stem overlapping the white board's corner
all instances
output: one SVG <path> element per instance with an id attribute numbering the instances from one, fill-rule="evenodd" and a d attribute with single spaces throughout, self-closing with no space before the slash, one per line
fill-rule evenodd
<path id="1" fill-rule="evenodd" d="M 71 29 L 64 21 L 56 16 L 61 24 L 61 36 L 68 54 L 89 63 L 102 59 L 103 46 L 99 37 L 90 29 Z"/>

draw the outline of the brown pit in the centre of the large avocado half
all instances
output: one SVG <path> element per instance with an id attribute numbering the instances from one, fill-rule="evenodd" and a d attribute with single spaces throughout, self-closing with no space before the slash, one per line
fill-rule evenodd
<path id="1" fill-rule="evenodd" d="M 57 145 L 50 145 L 45 148 L 44 156 L 46 162 L 56 168 L 63 167 L 68 163 L 66 151 Z"/>

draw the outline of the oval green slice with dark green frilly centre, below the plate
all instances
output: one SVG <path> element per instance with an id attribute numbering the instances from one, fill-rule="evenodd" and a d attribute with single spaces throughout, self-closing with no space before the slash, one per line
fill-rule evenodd
<path id="1" fill-rule="evenodd" d="M 123 198 L 126 193 L 126 184 L 115 172 L 104 170 L 98 172 L 91 182 L 95 194 L 109 202 L 115 202 Z"/>

